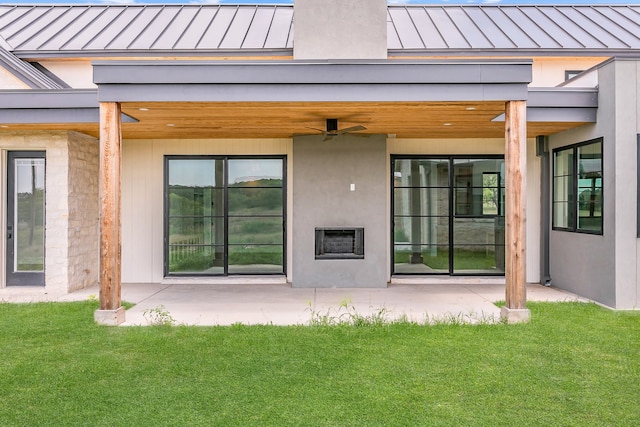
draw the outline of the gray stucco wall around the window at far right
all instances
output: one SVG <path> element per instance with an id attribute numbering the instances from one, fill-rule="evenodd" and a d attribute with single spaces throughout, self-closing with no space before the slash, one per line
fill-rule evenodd
<path id="1" fill-rule="evenodd" d="M 552 135 L 550 148 L 603 138 L 602 236 L 551 231 L 552 284 L 610 307 L 629 309 L 638 300 L 636 181 L 638 67 L 616 60 L 598 70 L 597 123 Z"/>

